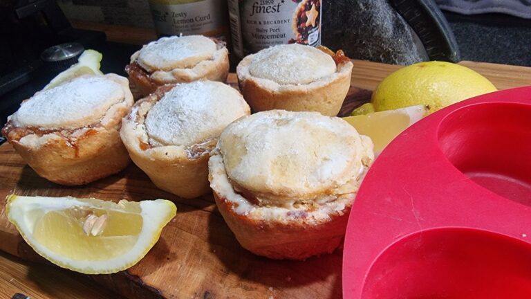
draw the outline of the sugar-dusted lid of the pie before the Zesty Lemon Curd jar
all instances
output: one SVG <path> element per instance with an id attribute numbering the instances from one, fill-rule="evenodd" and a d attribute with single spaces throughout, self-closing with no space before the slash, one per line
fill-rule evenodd
<path id="1" fill-rule="evenodd" d="M 138 63 L 150 72 L 171 71 L 209 60 L 215 52 L 216 43 L 201 35 L 162 37 L 140 50 Z"/>

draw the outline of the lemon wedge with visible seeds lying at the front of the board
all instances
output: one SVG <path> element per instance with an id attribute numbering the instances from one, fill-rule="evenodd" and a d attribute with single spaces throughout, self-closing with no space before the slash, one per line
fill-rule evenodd
<path id="1" fill-rule="evenodd" d="M 155 245 L 175 216 L 171 201 L 125 201 L 74 197 L 8 197 L 8 219 L 37 252 L 66 269 L 115 273 Z"/>

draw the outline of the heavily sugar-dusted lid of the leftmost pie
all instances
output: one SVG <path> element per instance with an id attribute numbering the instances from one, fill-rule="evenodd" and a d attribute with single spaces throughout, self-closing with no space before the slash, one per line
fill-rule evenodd
<path id="1" fill-rule="evenodd" d="M 103 76 L 76 78 L 41 91 L 23 102 L 12 120 L 19 126 L 73 128 L 100 120 L 111 105 L 123 100 L 117 82 Z"/>

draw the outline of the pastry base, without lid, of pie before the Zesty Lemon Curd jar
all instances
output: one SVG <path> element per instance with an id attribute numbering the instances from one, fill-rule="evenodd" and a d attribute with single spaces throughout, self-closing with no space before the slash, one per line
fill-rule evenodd
<path id="1" fill-rule="evenodd" d="M 148 96 L 165 84 L 210 80 L 225 82 L 229 75 L 229 52 L 223 42 L 216 42 L 218 49 L 212 60 L 199 62 L 190 69 L 173 69 L 171 71 L 154 71 L 149 73 L 136 62 L 140 51 L 131 56 L 131 63 L 125 67 L 133 89 L 141 96 Z"/>

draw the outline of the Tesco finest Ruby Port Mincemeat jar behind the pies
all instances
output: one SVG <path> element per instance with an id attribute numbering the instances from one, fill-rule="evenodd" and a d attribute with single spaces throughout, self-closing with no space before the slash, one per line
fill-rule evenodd
<path id="1" fill-rule="evenodd" d="M 234 51 L 243 57 L 277 44 L 321 44 L 322 0 L 229 0 Z"/>

